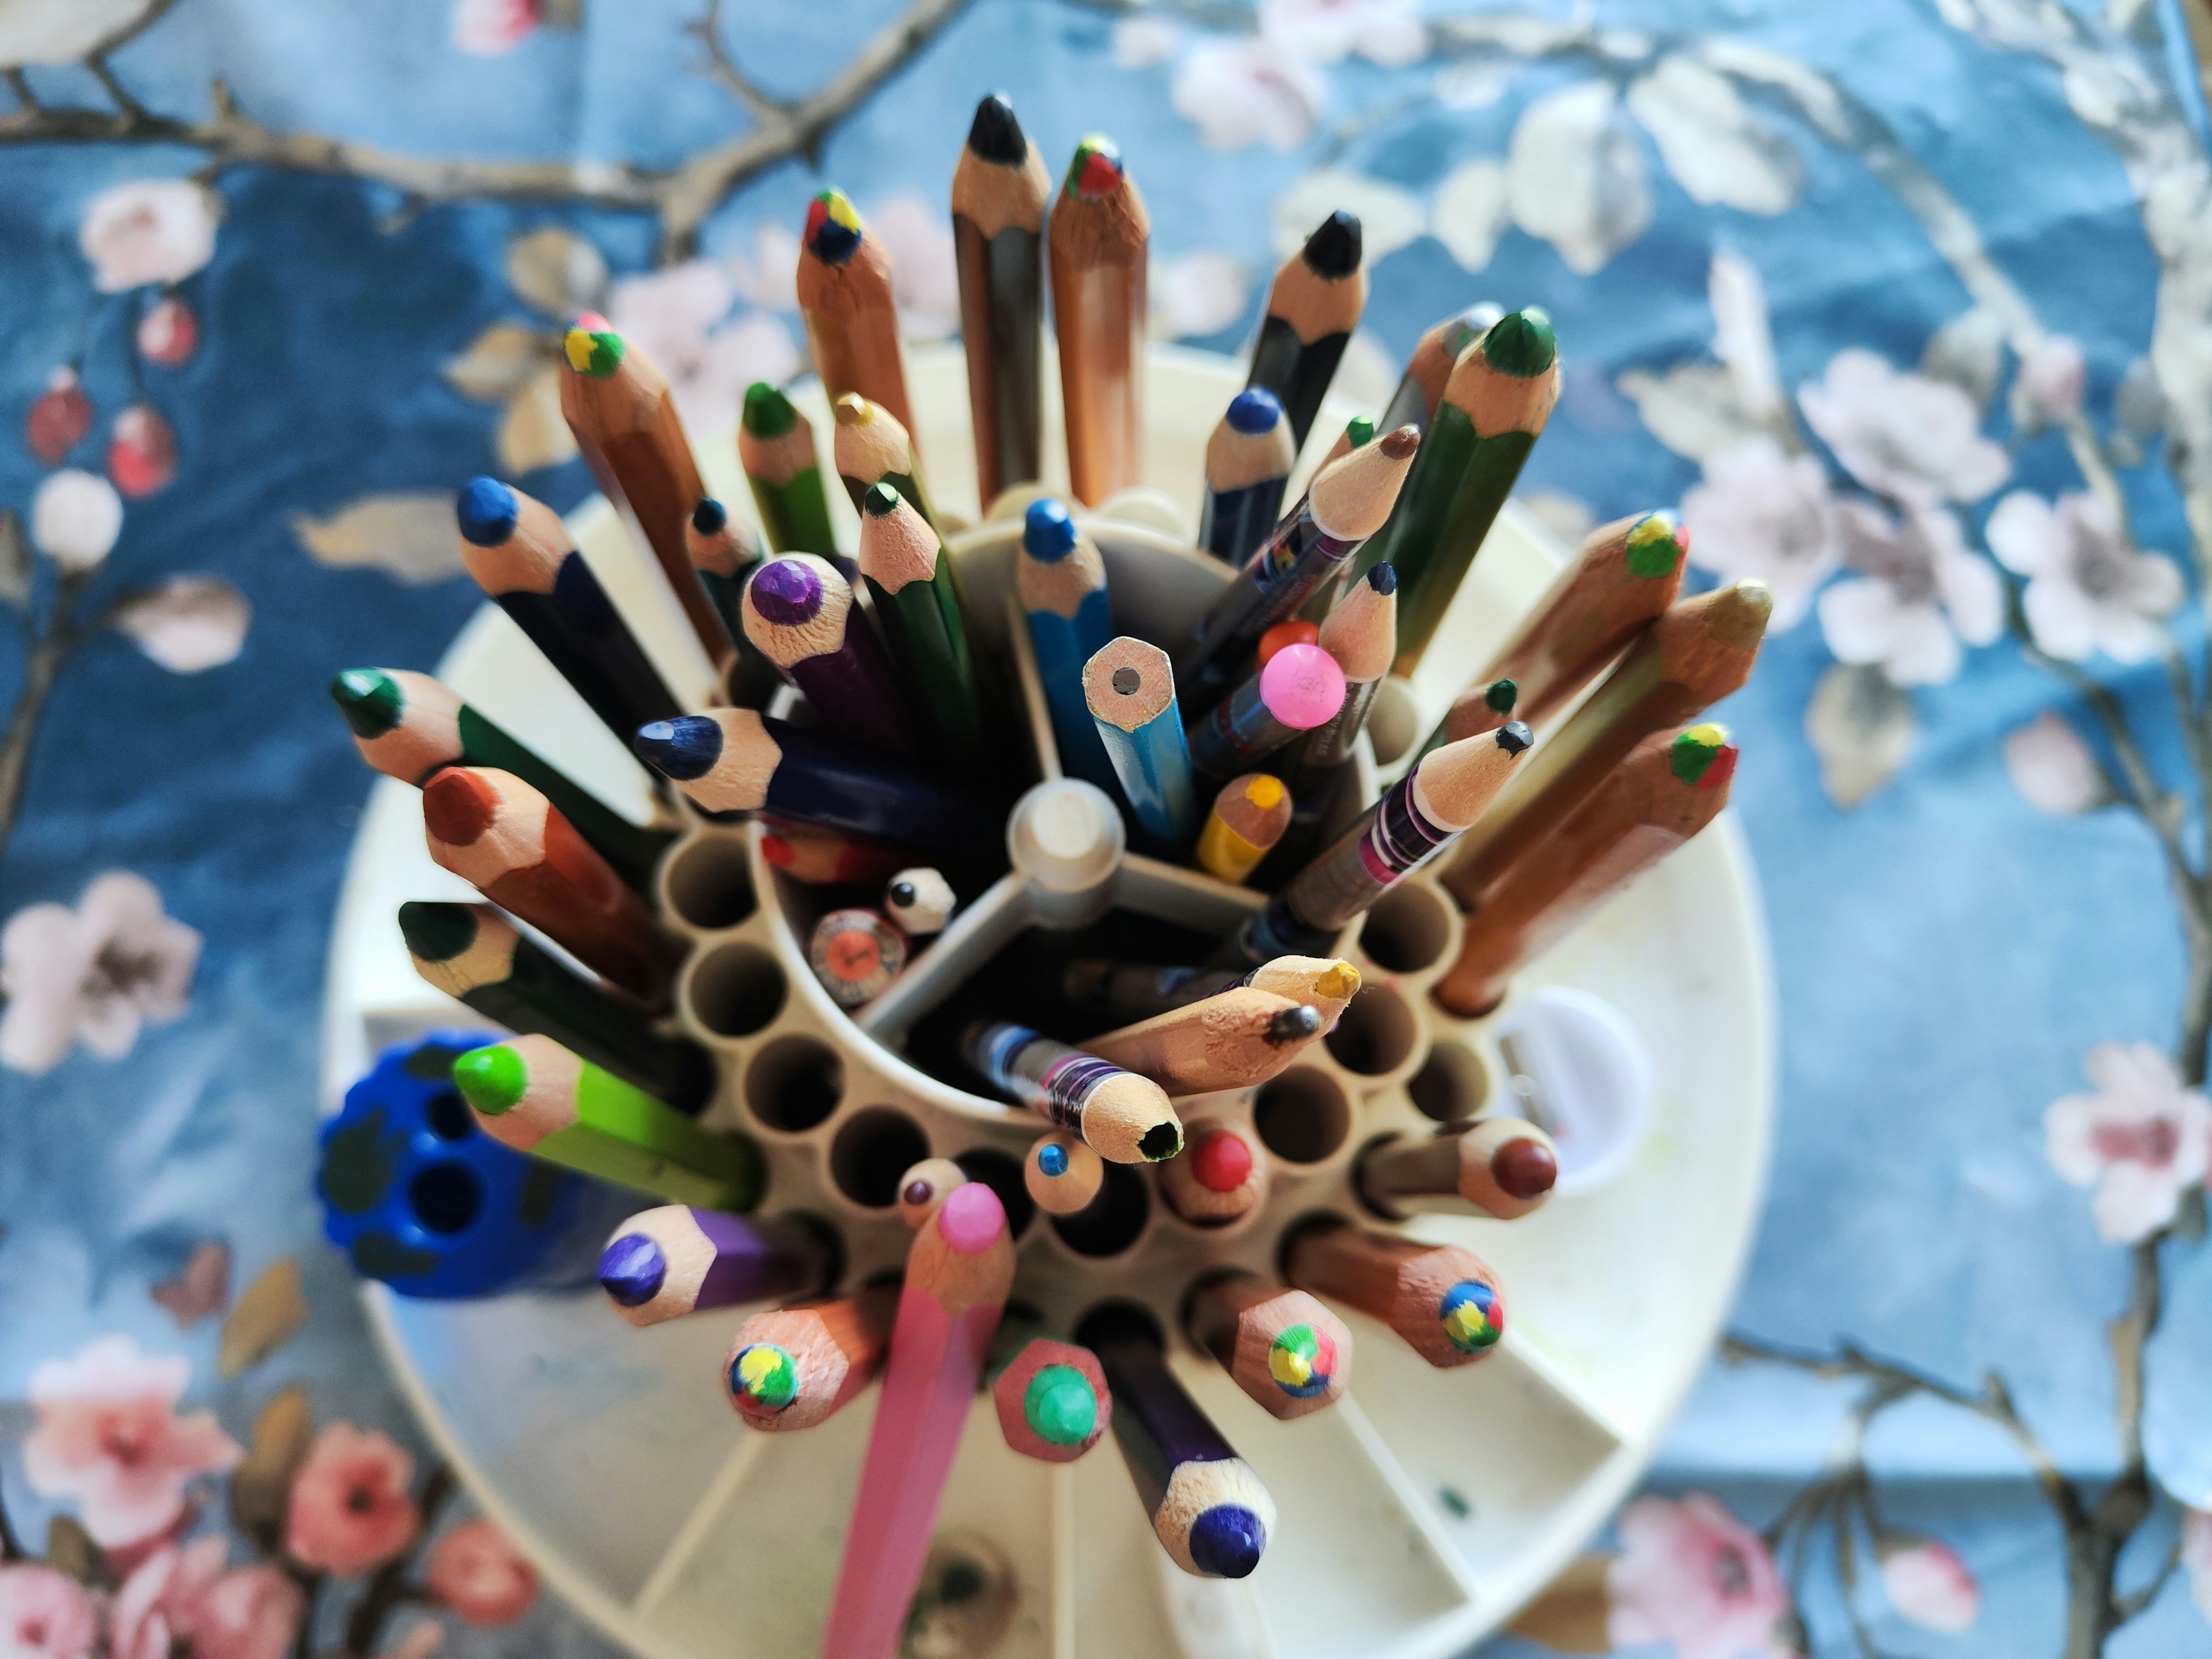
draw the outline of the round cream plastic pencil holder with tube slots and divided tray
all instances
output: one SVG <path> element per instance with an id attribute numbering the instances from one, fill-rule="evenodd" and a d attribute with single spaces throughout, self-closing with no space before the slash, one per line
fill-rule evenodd
<path id="1" fill-rule="evenodd" d="M 1225 566 L 1190 549 L 1186 520 L 1206 434 L 1241 378 L 1228 358 L 1155 347 L 1148 482 L 1157 493 L 1084 515 L 1106 560 L 1117 630 L 1170 653 L 1228 580 Z M 938 502 L 973 520 L 973 498 L 960 500 L 973 469 L 958 349 L 914 352 L 909 383 Z M 799 403 L 827 431 L 818 389 Z M 1051 409 L 1057 418 L 1057 396 Z M 1323 409 L 1316 453 L 1349 414 L 1340 400 Z M 1060 451 L 1048 429 L 1046 453 Z M 726 504 L 748 500 L 726 440 L 708 442 L 701 471 Z M 1000 518 L 949 535 L 947 546 L 980 648 L 1022 664 L 1026 633 L 1011 608 L 1018 507 L 1002 502 Z M 832 509 L 849 535 L 847 504 Z M 588 502 L 571 524 L 672 684 L 701 686 L 697 646 L 606 502 Z M 1422 675 L 1394 686 L 1378 712 L 1380 768 L 1363 739 L 1365 799 L 1562 557 L 1533 518 L 1509 507 Z M 438 672 L 606 799 L 646 810 L 637 768 L 491 606 Z M 1046 825 L 1040 841 L 1035 814 L 1051 807 L 1057 761 L 1033 668 L 1024 677 L 1022 723 L 1046 785 L 1015 807 L 1011 869 L 962 891 L 945 933 L 856 1015 L 830 1000 L 805 953 L 814 916 L 838 900 L 776 872 L 757 825 L 688 816 L 659 869 L 661 916 L 690 942 L 679 1015 L 723 1075 L 706 1121 L 763 1146 L 763 1210 L 805 1210 L 838 1228 L 845 1285 L 905 1261 L 911 1234 L 896 1186 L 916 1159 L 956 1157 L 971 1177 L 1020 1194 L 1022 1152 L 1044 1124 L 947 1082 L 962 1073 L 936 1057 L 931 1035 L 993 958 L 1029 929 L 1126 918 L 1137 936 L 1186 940 L 1186 956 L 1146 960 L 1203 960 L 1261 902 L 1252 889 L 1126 847 L 1040 856 L 1040 845 L 1066 836 L 1055 841 Z M 465 894 L 422 849 L 416 792 L 380 781 L 332 945 L 323 1071 L 332 1099 L 374 1046 L 456 1022 L 453 1004 L 416 980 L 394 922 L 398 902 L 442 896 Z M 1113 1449 L 1055 1467 L 1022 1460 L 984 1396 L 938 1517 L 940 1551 L 978 1568 L 1004 1615 L 975 1624 L 975 1659 L 1442 1659 L 1502 1626 L 1644 1471 L 1710 1352 L 1759 1212 L 1774 1031 L 1750 860 L 1723 814 L 1522 973 L 1482 1020 L 1449 1018 L 1429 1000 L 1458 942 L 1460 918 L 1442 887 L 1422 874 L 1402 880 L 1340 945 L 1363 987 L 1329 1037 L 1256 1091 L 1179 1102 L 1186 1119 L 1250 1124 L 1267 1152 L 1267 1199 L 1237 1223 L 1181 1221 L 1161 1203 L 1157 1175 L 1133 1166 L 1108 1166 L 1106 1194 L 1073 1219 L 1020 1197 L 1009 1203 L 1015 1301 L 1062 1336 L 1099 1301 L 1146 1305 L 1170 1334 L 1179 1378 L 1265 1480 L 1281 1520 L 1250 1579 L 1190 1579 L 1159 1551 Z M 1475 1250 L 1498 1272 L 1506 1336 L 1480 1365 L 1431 1369 L 1347 1312 L 1356 1336 L 1347 1398 L 1276 1422 L 1183 1343 L 1179 1303 L 1203 1270 L 1272 1272 L 1285 1228 L 1316 1212 L 1383 1225 L 1352 1190 L 1363 1146 L 1491 1110 L 1542 1119 L 1546 1102 L 1586 1097 L 1593 1077 L 1626 1077 L 1648 1099 L 1590 1117 L 1604 1144 L 1586 1157 L 1573 1135 L 1562 1139 L 1564 1175 L 1579 1179 L 1562 1179 L 1548 1206 L 1511 1223 L 1407 1223 L 1422 1239 Z M 1648 1115 L 1641 1137 L 1635 1113 Z M 1571 1110 L 1551 1117 L 1582 1128 Z M 717 1385 L 737 1316 L 630 1329 L 597 1294 L 425 1303 L 367 1285 L 365 1296 L 429 1436 L 606 1635 L 650 1659 L 818 1650 L 872 1396 L 805 1433 L 763 1436 L 730 1413 Z M 931 1648 L 940 1650 L 949 1648 Z"/>

